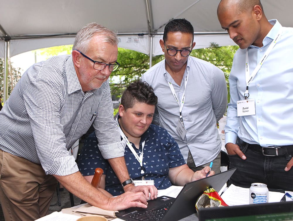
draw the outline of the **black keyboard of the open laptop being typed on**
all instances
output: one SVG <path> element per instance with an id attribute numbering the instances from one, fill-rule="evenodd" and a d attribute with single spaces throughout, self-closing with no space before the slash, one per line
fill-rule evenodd
<path id="1" fill-rule="evenodd" d="M 161 220 L 163 219 L 164 214 L 168 211 L 170 206 L 172 206 L 172 203 L 168 203 L 164 205 L 162 208 L 156 209 L 156 210 L 149 210 L 149 211 L 139 211 L 137 213 L 134 213 L 130 217 L 135 220 Z"/>

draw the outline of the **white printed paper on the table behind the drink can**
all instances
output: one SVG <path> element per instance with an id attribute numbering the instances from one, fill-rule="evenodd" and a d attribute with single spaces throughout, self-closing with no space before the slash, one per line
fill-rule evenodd
<path id="1" fill-rule="evenodd" d="M 269 191 L 269 203 L 280 202 L 285 193 Z M 249 188 L 237 187 L 231 184 L 221 198 L 229 206 L 249 204 Z"/>

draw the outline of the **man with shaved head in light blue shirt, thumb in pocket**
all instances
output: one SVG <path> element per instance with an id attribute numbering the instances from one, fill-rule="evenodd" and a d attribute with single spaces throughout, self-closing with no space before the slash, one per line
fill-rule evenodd
<path id="1" fill-rule="evenodd" d="M 230 168 L 237 168 L 231 182 L 292 191 L 293 28 L 268 21 L 259 0 L 222 0 L 217 13 L 240 47 L 225 127 Z"/>

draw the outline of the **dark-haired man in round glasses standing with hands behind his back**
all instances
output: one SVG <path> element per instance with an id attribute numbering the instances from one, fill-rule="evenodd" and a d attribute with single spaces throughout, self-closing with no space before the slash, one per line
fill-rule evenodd
<path id="1" fill-rule="evenodd" d="M 221 138 L 216 124 L 226 112 L 224 73 L 209 62 L 189 56 L 195 42 L 193 26 L 185 19 L 167 23 L 160 45 L 165 60 L 142 76 L 158 97 L 153 122 L 176 140 L 193 171 L 213 161 L 213 170 L 219 173 Z"/>

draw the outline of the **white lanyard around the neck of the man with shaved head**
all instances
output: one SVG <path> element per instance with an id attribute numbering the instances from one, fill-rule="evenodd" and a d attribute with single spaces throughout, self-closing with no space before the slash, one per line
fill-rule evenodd
<path id="1" fill-rule="evenodd" d="M 276 35 L 275 39 L 270 44 L 268 50 L 263 55 L 263 58 L 260 60 L 260 62 L 258 63 L 258 65 L 253 70 L 251 76 L 250 76 L 250 73 L 249 73 L 248 49 L 246 48 L 246 58 L 245 58 L 246 59 L 246 62 L 245 62 L 246 91 L 244 93 L 245 100 L 249 97 L 249 93 L 248 93 L 249 83 L 254 79 L 254 77 L 257 74 L 257 72 L 259 71 L 260 67 L 263 65 L 263 63 L 265 62 L 265 60 L 268 58 L 268 55 L 272 51 L 273 47 L 276 45 L 277 41 L 280 39 L 281 34 L 282 34 L 282 28 L 280 29 L 280 31 Z M 248 96 L 246 96 L 246 95 L 248 95 Z"/>

